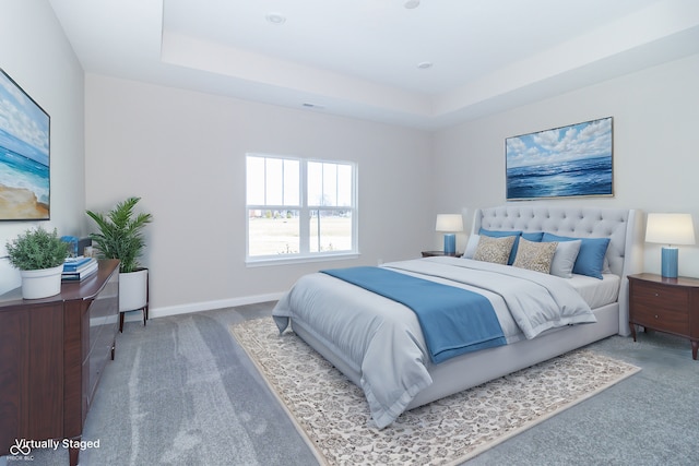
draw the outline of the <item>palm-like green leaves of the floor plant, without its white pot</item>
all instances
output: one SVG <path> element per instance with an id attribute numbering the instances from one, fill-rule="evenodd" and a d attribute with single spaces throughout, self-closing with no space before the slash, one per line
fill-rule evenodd
<path id="1" fill-rule="evenodd" d="M 86 211 L 99 229 L 99 232 L 90 234 L 98 256 L 121 261 L 121 273 L 135 272 L 140 267 L 138 259 L 145 249 L 143 228 L 153 220 L 151 214 L 133 212 L 140 200 L 129 198 L 107 213 Z"/>

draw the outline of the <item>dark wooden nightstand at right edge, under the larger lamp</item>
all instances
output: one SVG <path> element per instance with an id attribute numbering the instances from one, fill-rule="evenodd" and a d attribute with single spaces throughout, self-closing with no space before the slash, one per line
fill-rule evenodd
<path id="1" fill-rule="evenodd" d="M 699 279 L 629 275 L 629 325 L 684 336 L 691 342 L 691 358 L 699 348 Z"/>

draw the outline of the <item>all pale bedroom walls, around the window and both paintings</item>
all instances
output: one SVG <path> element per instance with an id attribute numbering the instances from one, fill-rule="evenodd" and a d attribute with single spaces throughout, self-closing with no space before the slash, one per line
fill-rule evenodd
<path id="1" fill-rule="evenodd" d="M 0 67 L 51 116 L 51 220 L 43 225 L 83 235 L 85 208 L 129 195 L 154 214 L 145 258 L 154 315 L 273 299 L 320 267 L 439 248 L 436 214 L 505 202 L 506 138 L 595 118 L 614 117 L 615 196 L 550 203 L 699 218 L 699 56 L 435 133 L 84 76 L 45 0 L 0 0 Z M 360 258 L 246 267 L 251 151 L 356 160 Z M 0 256 L 36 224 L 0 223 Z M 680 248 L 680 274 L 699 276 L 698 251 Z M 645 270 L 660 270 L 660 246 L 647 244 Z M 0 292 L 17 285 L 0 260 Z"/>

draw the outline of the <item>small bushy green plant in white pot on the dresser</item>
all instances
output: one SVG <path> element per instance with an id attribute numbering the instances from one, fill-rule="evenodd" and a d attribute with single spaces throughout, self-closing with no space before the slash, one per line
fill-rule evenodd
<path id="1" fill-rule="evenodd" d="M 10 263 L 22 275 L 22 297 L 38 299 L 61 292 L 61 273 L 68 258 L 68 243 L 38 227 L 26 230 L 5 244 Z"/>

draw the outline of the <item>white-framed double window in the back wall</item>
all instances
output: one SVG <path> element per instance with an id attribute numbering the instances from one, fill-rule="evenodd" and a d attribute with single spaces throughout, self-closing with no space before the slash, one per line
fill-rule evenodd
<path id="1" fill-rule="evenodd" d="M 248 262 L 356 254 L 356 166 L 248 154 Z"/>

